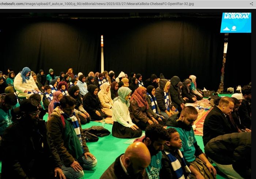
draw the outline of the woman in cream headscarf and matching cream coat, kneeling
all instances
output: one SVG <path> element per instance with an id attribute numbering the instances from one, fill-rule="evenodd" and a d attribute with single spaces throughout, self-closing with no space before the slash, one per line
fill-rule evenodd
<path id="1" fill-rule="evenodd" d="M 102 108 L 105 114 L 109 117 L 112 116 L 113 100 L 111 98 L 109 82 L 103 83 L 100 87 L 101 90 L 98 93 L 99 101 L 101 102 Z"/>

